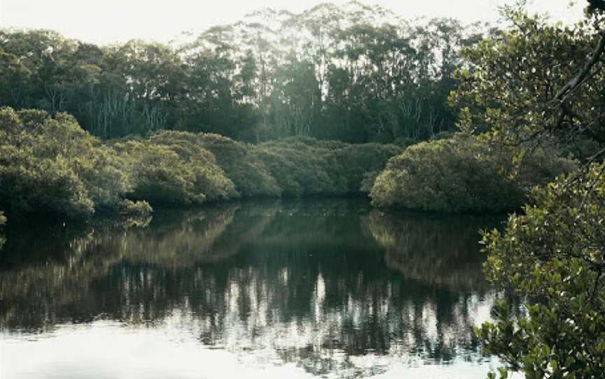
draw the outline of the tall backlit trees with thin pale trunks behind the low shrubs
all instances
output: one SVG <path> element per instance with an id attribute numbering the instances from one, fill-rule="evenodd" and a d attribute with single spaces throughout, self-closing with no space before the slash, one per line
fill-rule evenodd
<path id="1" fill-rule="evenodd" d="M 173 45 L 4 30 L 0 106 L 67 112 L 101 138 L 172 129 L 405 144 L 454 128 L 447 96 L 476 30 L 356 1 L 263 10 Z"/>

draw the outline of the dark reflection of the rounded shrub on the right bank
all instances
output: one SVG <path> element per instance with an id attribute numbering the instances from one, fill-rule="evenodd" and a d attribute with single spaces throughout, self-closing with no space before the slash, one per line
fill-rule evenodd
<path id="1" fill-rule="evenodd" d="M 480 229 L 499 224 L 494 217 L 370 212 L 366 225 L 391 269 L 406 278 L 453 292 L 486 289 L 478 257 Z"/>

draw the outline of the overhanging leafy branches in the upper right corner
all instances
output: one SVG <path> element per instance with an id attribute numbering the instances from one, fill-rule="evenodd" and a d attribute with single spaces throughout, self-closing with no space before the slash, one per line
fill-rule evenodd
<path id="1" fill-rule="evenodd" d="M 510 145 L 552 136 L 566 144 L 570 135 L 605 142 L 601 123 L 593 122 L 604 112 L 602 71 L 593 69 L 582 90 L 558 106 L 552 102 L 597 45 L 590 25 L 550 24 L 515 7 L 505 8 L 504 15 L 512 28 L 461 51 L 468 66 L 457 71 L 459 87 L 450 97 L 463 109 L 461 129 Z"/>

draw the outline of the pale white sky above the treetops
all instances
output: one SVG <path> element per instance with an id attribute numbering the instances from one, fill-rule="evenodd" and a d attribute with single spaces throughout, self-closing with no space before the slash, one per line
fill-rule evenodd
<path id="1" fill-rule="evenodd" d="M 463 22 L 497 20 L 496 6 L 513 0 L 365 0 L 404 18 L 454 17 Z M 70 38 L 117 43 L 131 38 L 167 42 L 182 31 L 200 32 L 242 20 L 260 8 L 300 12 L 321 0 L 0 0 L 0 27 L 53 29 Z M 343 1 L 332 1 L 342 3 Z M 574 22 L 585 1 L 534 0 L 531 10 Z"/>

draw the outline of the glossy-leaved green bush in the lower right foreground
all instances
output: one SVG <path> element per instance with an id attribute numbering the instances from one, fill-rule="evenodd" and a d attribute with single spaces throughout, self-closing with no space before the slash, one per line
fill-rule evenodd
<path id="1" fill-rule="evenodd" d="M 605 171 L 592 164 L 534 190 L 505 231 L 484 234 L 488 278 L 529 301 L 506 303 L 477 333 L 526 378 L 600 378 L 605 371 Z"/>

